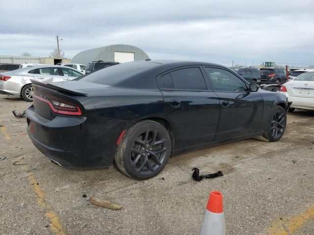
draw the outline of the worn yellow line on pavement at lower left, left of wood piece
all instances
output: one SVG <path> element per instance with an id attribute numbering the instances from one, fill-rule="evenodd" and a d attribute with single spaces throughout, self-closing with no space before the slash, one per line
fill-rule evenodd
<path id="1" fill-rule="evenodd" d="M 23 158 L 20 159 L 19 164 L 24 164 Z M 62 225 L 58 216 L 52 210 L 51 205 L 48 203 L 47 198 L 43 190 L 40 188 L 39 184 L 37 183 L 34 175 L 32 172 L 29 171 L 28 165 L 24 164 L 21 165 L 22 169 L 27 172 L 27 180 L 29 184 L 31 184 L 33 191 L 37 196 L 37 203 L 38 205 L 45 211 L 45 216 L 50 219 L 50 228 L 54 235 L 65 235 L 63 231 Z"/>

